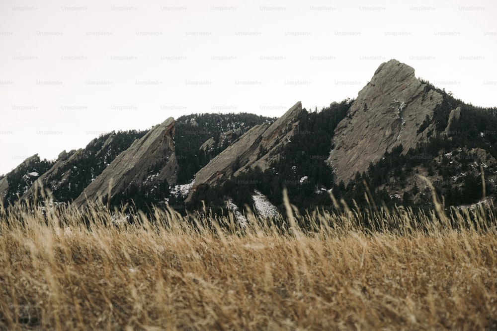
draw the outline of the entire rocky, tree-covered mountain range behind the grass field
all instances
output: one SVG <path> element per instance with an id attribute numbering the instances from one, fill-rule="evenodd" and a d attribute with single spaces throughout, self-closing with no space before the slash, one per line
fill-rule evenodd
<path id="1" fill-rule="evenodd" d="M 496 115 L 390 60 L 356 99 L 320 111 L 297 102 L 280 118 L 191 114 L 102 135 L 53 161 L 34 155 L 0 176 L 0 198 L 33 200 L 36 182 L 79 208 L 101 200 L 145 211 L 168 204 L 182 213 L 240 213 L 247 205 L 267 216 L 284 212 L 286 189 L 301 212 L 335 209 L 329 193 L 361 210 L 427 209 L 432 195 L 421 175 L 446 207 L 492 203 Z"/>

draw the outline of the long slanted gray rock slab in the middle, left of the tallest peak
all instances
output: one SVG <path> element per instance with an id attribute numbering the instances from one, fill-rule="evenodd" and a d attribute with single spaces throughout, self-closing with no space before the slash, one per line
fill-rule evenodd
<path id="1" fill-rule="evenodd" d="M 278 159 L 274 151 L 284 146 L 294 135 L 297 118 L 302 111 L 299 101 L 272 124 L 266 122 L 257 125 L 235 140 L 195 174 L 195 184 L 186 201 L 191 200 L 199 185 L 220 185 L 232 176 L 236 177 L 256 166 L 262 171 L 267 169 L 271 162 Z"/>

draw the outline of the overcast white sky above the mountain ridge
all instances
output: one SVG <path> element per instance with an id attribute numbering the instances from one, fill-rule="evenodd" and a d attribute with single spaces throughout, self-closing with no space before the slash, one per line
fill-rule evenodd
<path id="1" fill-rule="evenodd" d="M 190 113 L 354 98 L 395 58 L 497 106 L 497 1 L 0 1 L 0 174 Z"/>

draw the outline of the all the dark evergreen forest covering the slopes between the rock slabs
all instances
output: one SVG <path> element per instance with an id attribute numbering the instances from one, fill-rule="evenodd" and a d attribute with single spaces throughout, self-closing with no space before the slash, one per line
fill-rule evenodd
<path id="1" fill-rule="evenodd" d="M 338 201 L 343 199 L 349 206 L 353 206 L 354 201 L 360 206 L 366 206 L 370 202 L 389 207 L 395 204 L 432 206 L 426 187 L 417 183 L 412 185 L 413 175 L 416 174 L 440 178 L 433 185 L 437 194 L 444 197 L 446 206 L 477 202 L 482 199 L 483 183 L 479 168 L 475 169 L 475 162 L 480 164 L 484 160 L 479 159 L 474 152 L 470 153 L 470 150 L 480 148 L 497 158 L 496 108 L 485 109 L 465 104 L 429 82 L 425 83 L 425 93 L 435 89 L 443 96 L 442 103 L 435 109 L 433 117 L 427 118 L 419 129 L 419 132 L 422 132 L 430 125 L 434 126 L 434 133 L 429 136 L 428 141 L 419 143 L 404 154 L 402 146 L 394 148 L 387 152 L 382 160 L 370 164 L 366 172 L 357 173 L 354 179 L 346 183 L 335 183 L 332 169 L 325 160 L 334 147 L 334 129 L 347 116 L 354 102 L 350 99 L 333 103 L 321 111 L 316 109 L 312 112 L 302 112 L 296 119 L 299 123 L 296 134 L 277 151 L 278 161 L 273 162 L 264 171 L 260 168 L 252 169 L 221 186 L 200 186 L 186 206 L 183 204 L 184 197 L 176 198 L 170 195 L 169 183 L 166 182 L 155 183 L 154 186 L 146 183 L 136 184 L 124 195 L 114 197 L 110 203 L 118 206 L 129 202 L 137 208 L 150 209 L 153 204 L 164 206 L 166 199 L 169 199 L 171 205 L 183 205 L 188 210 L 199 210 L 203 203 L 206 203 L 213 210 L 226 212 L 226 209 L 223 209 L 228 199 L 232 199 L 241 207 L 245 204 L 252 207 L 251 197 L 254 191 L 258 190 L 283 211 L 282 191 L 286 188 L 291 202 L 302 212 L 316 207 L 332 210 L 334 206 L 329 190 Z M 447 135 L 442 134 L 447 127 L 451 110 L 457 107 L 461 109 L 459 119 L 452 121 Z M 190 182 L 199 169 L 253 126 L 273 120 L 275 119 L 246 113 L 192 114 L 178 118 L 174 137 L 179 165 L 178 183 Z M 223 135 L 223 132 L 229 130 L 236 131 L 230 139 Z M 119 131 L 99 136 L 80 152 L 81 155 L 59 168 L 52 177 L 60 180 L 69 174 L 69 179 L 64 185 L 52 181 L 46 183 L 46 186 L 52 190 L 54 198 L 59 202 L 76 199 L 120 152 L 146 132 Z M 214 144 L 206 150 L 200 149 L 211 137 Z M 258 151 L 260 155 L 265 152 Z M 69 154 L 72 153 L 75 151 Z M 42 175 L 53 165 L 54 161 L 38 159 L 7 174 L 9 188 L 4 202 L 15 202 L 31 187 L 37 177 L 26 174 L 37 172 Z M 234 168 L 240 166 L 235 164 Z M 153 172 L 154 169 L 151 168 L 150 171 Z M 485 172 L 495 174 L 497 169 L 495 165 L 489 164 Z M 366 198 L 364 183 L 370 190 L 373 201 L 368 201 L 369 197 Z M 496 192 L 492 180 L 486 178 L 485 184 L 487 195 Z M 394 194 L 395 192 L 400 194 Z M 424 200 L 420 200 L 421 195 L 425 196 Z"/>

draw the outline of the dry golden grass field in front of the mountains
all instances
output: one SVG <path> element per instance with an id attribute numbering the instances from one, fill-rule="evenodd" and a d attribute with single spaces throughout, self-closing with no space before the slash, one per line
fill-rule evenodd
<path id="1" fill-rule="evenodd" d="M 0 209 L 0 330 L 497 329 L 482 207 L 379 210 L 369 230 L 347 208 L 306 215 L 305 230 L 296 213 L 243 228 L 31 209 Z"/>

